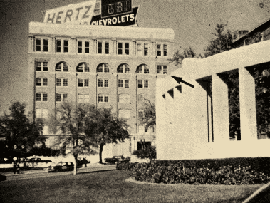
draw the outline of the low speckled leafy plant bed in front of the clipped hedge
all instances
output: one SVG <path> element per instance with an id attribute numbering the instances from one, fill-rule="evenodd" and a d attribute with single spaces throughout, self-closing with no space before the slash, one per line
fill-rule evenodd
<path id="1" fill-rule="evenodd" d="M 182 162 L 169 163 L 121 163 L 117 170 L 133 171 L 132 177 L 137 181 L 166 184 L 266 184 L 270 177 L 257 172 L 251 167 L 234 167 L 227 165 L 214 170 L 206 167 L 185 167 Z"/>

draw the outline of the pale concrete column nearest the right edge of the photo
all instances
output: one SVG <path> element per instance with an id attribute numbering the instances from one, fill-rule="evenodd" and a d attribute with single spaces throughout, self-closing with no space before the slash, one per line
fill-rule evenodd
<path id="1" fill-rule="evenodd" d="M 255 80 L 246 68 L 239 68 L 239 103 L 241 140 L 256 140 Z"/>

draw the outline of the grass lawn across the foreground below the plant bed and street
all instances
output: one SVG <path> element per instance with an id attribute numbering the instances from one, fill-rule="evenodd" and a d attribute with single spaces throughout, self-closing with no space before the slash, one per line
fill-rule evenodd
<path id="1" fill-rule="evenodd" d="M 0 182 L 0 202 L 242 202 L 261 185 L 141 184 L 130 172 L 88 172 Z"/>

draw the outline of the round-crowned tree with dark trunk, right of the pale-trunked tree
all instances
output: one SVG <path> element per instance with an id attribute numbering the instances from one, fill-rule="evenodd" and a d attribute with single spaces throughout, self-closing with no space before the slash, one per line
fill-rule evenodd
<path id="1" fill-rule="evenodd" d="M 129 138 L 128 124 L 125 119 L 112 113 L 112 108 L 98 108 L 88 113 L 85 134 L 92 134 L 99 145 L 100 163 L 103 147 L 109 143 L 124 142 Z"/>

